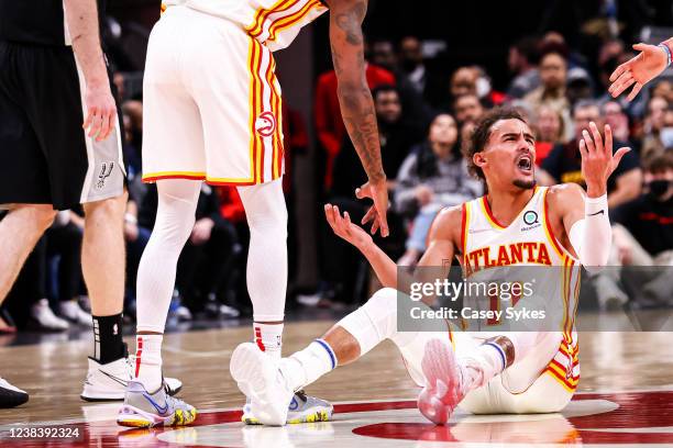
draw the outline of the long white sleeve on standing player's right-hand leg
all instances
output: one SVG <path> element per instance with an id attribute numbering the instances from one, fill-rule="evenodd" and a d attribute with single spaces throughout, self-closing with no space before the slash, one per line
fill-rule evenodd
<path id="1" fill-rule="evenodd" d="M 247 292 L 255 322 L 283 321 L 287 290 L 287 209 L 282 179 L 239 187 L 250 226 Z"/>

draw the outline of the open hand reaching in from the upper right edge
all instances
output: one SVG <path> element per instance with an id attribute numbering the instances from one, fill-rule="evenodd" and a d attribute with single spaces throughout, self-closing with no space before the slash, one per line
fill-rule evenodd
<path id="1" fill-rule="evenodd" d="M 617 67 L 610 75 L 613 83 L 608 91 L 613 98 L 619 97 L 626 89 L 635 85 L 627 97 L 628 101 L 633 100 L 646 83 L 661 75 L 666 68 L 668 55 L 664 48 L 657 45 L 637 44 L 633 45 L 633 49 L 640 52 L 638 56 Z"/>

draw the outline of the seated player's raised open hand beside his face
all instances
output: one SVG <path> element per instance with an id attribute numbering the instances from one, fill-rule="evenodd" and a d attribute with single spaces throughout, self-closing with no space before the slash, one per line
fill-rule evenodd
<path id="1" fill-rule="evenodd" d="M 631 150 L 624 147 L 613 154 L 613 130 L 606 124 L 604 131 L 605 139 L 596 123 L 591 122 L 588 131 L 582 132 L 584 138 L 580 141 L 582 175 L 589 198 L 599 198 L 607 193 L 608 178 L 617 169 L 621 158 Z"/>

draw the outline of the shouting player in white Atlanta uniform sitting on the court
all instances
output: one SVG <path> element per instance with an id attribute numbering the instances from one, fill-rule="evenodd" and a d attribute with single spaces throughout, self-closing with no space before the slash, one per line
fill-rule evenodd
<path id="1" fill-rule="evenodd" d="M 457 256 L 470 273 L 492 262 L 484 260 L 486 250 L 493 257 L 499 246 L 532 244 L 544 255 L 544 265 L 567 268 L 564 287 L 551 288 L 558 296 L 544 300 L 563 300 L 572 306 L 576 298 L 571 292 L 578 290 L 578 264 L 606 264 L 611 237 L 607 179 L 629 149 L 613 155 L 609 126 L 603 138 L 592 123 L 580 146 L 586 195 L 575 184 L 537 188 L 532 134 L 514 110 L 495 110 L 484 117 L 473 134 L 467 158 L 473 172 L 486 182 L 488 194 L 440 213 L 419 266 L 443 266 Z M 532 212 L 541 225 L 525 224 L 525 220 L 530 224 Z M 446 423 L 459 404 L 473 413 L 547 413 L 569 403 L 580 369 L 572 313 L 564 332 L 398 332 L 397 266 L 347 213 L 342 215 L 328 204 L 326 214 L 334 233 L 367 258 L 385 288 L 289 358 L 274 361 L 253 344 L 236 348 L 231 373 L 252 400 L 260 421 L 283 424 L 295 390 L 356 360 L 386 338 L 398 346 L 411 378 L 423 387 L 419 410 L 437 424 Z M 540 260 L 512 256 L 509 261 L 532 265 Z M 514 389 L 512 382 L 517 384 Z"/>

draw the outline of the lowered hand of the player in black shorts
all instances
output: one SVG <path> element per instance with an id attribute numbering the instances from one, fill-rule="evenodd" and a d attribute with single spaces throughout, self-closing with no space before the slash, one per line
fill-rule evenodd
<path id="1" fill-rule="evenodd" d="M 108 81 L 87 86 L 85 103 L 87 116 L 82 127 L 88 130 L 87 135 L 89 137 L 102 142 L 108 138 L 110 132 L 114 128 L 114 121 L 117 120 L 117 105 Z"/>

